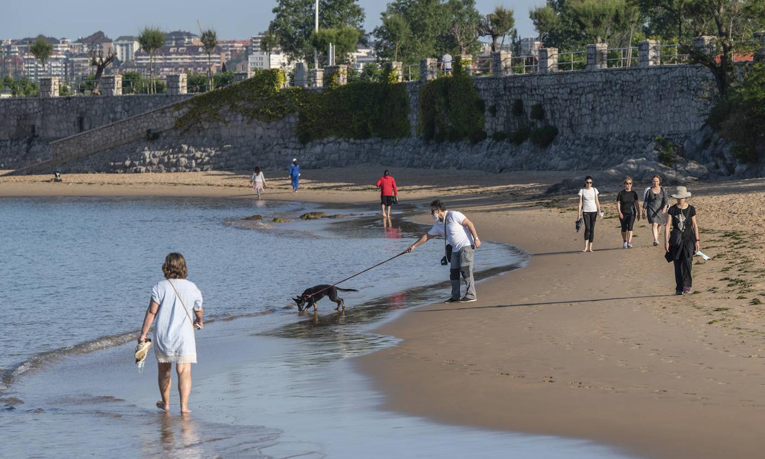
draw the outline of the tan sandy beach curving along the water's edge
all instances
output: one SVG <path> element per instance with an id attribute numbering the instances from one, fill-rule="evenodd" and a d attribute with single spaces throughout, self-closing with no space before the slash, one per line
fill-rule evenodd
<path id="1" fill-rule="evenodd" d="M 382 169 L 304 170 L 298 193 L 286 172 L 265 171 L 264 197 L 379 207 Z M 607 218 L 597 222 L 596 251 L 582 253 L 576 200 L 542 195 L 565 172 L 392 174 L 402 203 L 441 197 L 481 239 L 532 257 L 480 283 L 476 302 L 431 304 L 378 330 L 402 342 L 356 365 L 386 394 L 384 408 L 645 457 L 761 457 L 765 179 L 688 185 L 702 252 L 714 258 L 697 258 L 692 295 L 675 297 L 672 265 L 643 220 L 635 248 L 621 249 L 616 194 L 601 195 Z M 0 177 L 0 196 L 253 197 L 249 174 L 228 172 L 49 179 Z M 412 218 L 426 223 L 427 207 Z"/>

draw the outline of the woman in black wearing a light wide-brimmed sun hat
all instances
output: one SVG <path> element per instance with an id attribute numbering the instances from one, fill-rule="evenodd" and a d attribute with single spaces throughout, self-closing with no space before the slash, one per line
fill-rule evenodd
<path id="1" fill-rule="evenodd" d="M 677 187 L 672 197 L 677 203 L 667 210 L 667 215 L 672 216 L 672 233 L 669 225 L 665 226 L 664 249 L 667 259 L 675 262 L 675 295 L 682 295 L 691 291 L 691 267 L 694 254 L 700 249 L 700 241 L 696 210 L 688 204 L 691 194 L 685 187 Z"/>

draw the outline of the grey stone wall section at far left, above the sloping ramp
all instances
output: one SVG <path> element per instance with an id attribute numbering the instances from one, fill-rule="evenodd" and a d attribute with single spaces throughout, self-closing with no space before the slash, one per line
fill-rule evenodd
<path id="1" fill-rule="evenodd" d="M 129 95 L 0 99 L 0 169 L 50 158 L 48 144 L 190 96 Z"/>

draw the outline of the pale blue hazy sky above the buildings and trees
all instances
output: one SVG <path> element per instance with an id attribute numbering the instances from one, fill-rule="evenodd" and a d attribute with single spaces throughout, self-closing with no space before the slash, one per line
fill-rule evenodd
<path id="1" fill-rule="evenodd" d="M 366 30 L 371 31 L 379 24 L 386 0 L 360 0 L 359 3 L 366 13 Z M 268 27 L 276 4 L 277 0 L 38 0 L 34 2 L 34 11 L 30 11 L 33 5 L 30 3 L 2 2 L 0 38 L 46 34 L 76 40 L 101 30 L 114 39 L 119 35 L 135 35 L 145 24 L 158 25 L 168 31 L 197 32 L 199 19 L 203 27 L 215 28 L 222 40 L 246 39 Z M 534 35 L 529 6 L 542 4 L 544 0 L 476 0 L 482 14 L 493 10 L 495 5 L 513 8 L 521 37 Z"/>

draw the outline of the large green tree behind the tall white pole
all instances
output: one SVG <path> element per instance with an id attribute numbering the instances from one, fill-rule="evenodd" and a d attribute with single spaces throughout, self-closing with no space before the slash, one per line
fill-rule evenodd
<path id="1" fill-rule="evenodd" d="M 310 61 L 314 35 L 314 0 L 279 0 L 269 31 L 290 60 Z M 355 28 L 363 35 L 364 10 L 357 0 L 319 0 L 319 31 Z"/>

